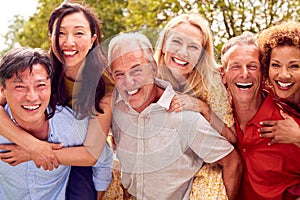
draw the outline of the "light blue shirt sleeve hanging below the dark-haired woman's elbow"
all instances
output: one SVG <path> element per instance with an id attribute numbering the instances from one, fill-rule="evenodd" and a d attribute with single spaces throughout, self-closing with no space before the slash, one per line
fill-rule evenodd
<path id="1" fill-rule="evenodd" d="M 105 191 L 112 181 L 113 151 L 106 144 L 97 163 L 93 166 L 93 182 L 97 191 Z"/>

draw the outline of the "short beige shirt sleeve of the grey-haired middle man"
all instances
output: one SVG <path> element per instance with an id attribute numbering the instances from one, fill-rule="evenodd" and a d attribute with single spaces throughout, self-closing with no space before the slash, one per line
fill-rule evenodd
<path id="1" fill-rule="evenodd" d="M 200 116 L 189 131 L 190 148 L 206 163 L 214 163 L 228 155 L 234 147 Z M 196 127 L 196 128 L 195 128 Z M 195 130 L 197 131 L 195 134 Z"/>

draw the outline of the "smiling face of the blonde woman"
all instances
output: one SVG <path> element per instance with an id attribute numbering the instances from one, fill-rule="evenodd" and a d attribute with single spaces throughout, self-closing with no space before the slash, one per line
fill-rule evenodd
<path id="1" fill-rule="evenodd" d="M 202 32 L 190 23 L 180 23 L 166 36 L 164 63 L 185 78 L 198 63 L 202 51 Z"/>

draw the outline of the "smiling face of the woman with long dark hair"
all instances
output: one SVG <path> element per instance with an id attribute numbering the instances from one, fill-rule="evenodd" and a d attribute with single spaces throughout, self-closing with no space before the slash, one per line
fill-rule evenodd
<path id="1" fill-rule="evenodd" d="M 53 33 L 55 33 L 55 27 L 56 23 L 54 23 Z M 60 56 L 55 48 L 55 37 L 55 34 L 52 34 L 51 44 L 55 56 L 59 58 Z M 62 19 L 59 31 L 59 46 L 66 62 L 67 75 L 68 71 L 77 72 L 79 70 L 96 37 L 96 35 L 91 35 L 89 22 L 83 13 L 72 13 Z M 75 79 L 75 77 L 71 78 Z"/>

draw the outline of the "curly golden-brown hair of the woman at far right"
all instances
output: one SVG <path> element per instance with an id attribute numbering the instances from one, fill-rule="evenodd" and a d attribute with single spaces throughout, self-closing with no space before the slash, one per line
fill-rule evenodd
<path id="1" fill-rule="evenodd" d="M 295 46 L 300 48 L 300 23 L 287 21 L 263 30 L 257 39 L 262 55 L 262 69 L 269 77 L 269 65 L 272 49 L 277 46 Z"/>

